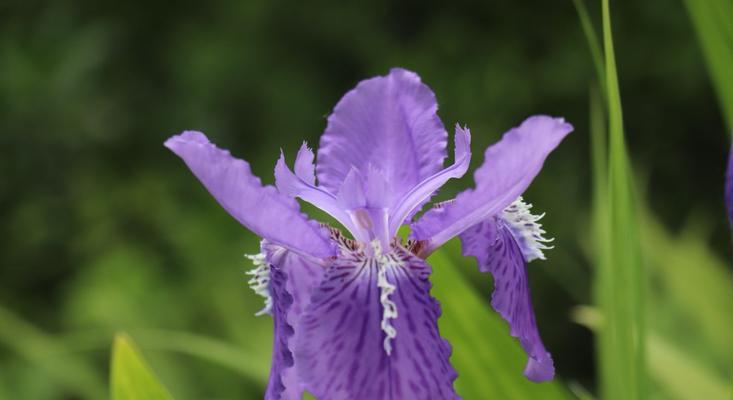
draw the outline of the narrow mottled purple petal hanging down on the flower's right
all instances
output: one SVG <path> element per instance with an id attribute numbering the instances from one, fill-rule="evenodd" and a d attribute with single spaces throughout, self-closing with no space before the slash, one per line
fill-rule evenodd
<path id="1" fill-rule="evenodd" d="M 512 230 L 500 217 L 490 217 L 460 238 L 463 255 L 476 257 L 481 272 L 494 276 L 491 306 L 509 323 L 511 335 L 529 356 L 524 375 L 535 382 L 552 379 L 555 367 L 537 330 L 526 262 Z"/>

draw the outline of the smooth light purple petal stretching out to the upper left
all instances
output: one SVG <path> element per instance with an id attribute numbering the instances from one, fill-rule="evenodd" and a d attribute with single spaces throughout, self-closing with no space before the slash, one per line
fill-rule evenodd
<path id="1" fill-rule="evenodd" d="M 165 142 L 224 209 L 257 235 L 317 258 L 334 254 L 325 232 L 299 211 L 298 203 L 262 186 L 249 164 L 217 148 L 201 132 L 186 131 Z"/>

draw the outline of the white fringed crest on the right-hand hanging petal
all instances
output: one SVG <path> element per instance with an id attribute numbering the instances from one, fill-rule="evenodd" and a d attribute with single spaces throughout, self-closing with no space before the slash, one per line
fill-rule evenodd
<path id="1" fill-rule="evenodd" d="M 534 215 L 530 211 L 532 204 L 525 203 L 522 196 L 519 196 L 512 204 L 510 204 L 501 214 L 501 220 L 511 230 L 512 235 L 519 243 L 522 255 L 527 262 L 534 259 L 545 259 L 545 253 L 542 250 L 552 249 L 545 243 L 552 242 L 555 239 L 545 238 L 544 229 L 539 220 L 545 214 Z"/>

